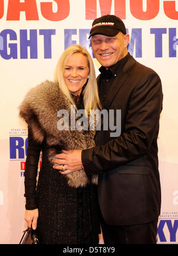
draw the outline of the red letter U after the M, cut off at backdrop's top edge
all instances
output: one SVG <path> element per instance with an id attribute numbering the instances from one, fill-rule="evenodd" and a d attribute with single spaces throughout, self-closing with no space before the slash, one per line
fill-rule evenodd
<path id="1" fill-rule="evenodd" d="M 147 0 L 147 11 L 143 11 L 142 0 L 130 0 L 131 14 L 138 20 L 152 20 L 160 10 L 160 0 Z"/>

